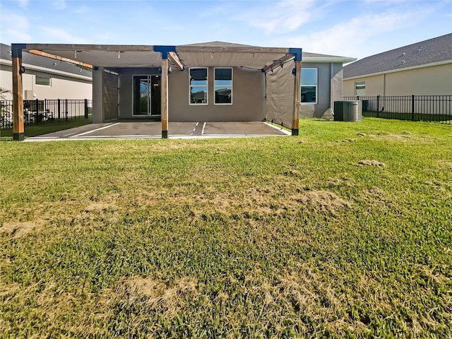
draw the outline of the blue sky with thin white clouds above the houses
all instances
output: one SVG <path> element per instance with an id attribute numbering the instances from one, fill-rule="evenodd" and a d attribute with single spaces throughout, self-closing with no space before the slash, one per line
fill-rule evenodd
<path id="1" fill-rule="evenodd" d="M 225 41 L 362 59 L 452 32 L 452 1 L 1 0 L 0 42 Z"/>

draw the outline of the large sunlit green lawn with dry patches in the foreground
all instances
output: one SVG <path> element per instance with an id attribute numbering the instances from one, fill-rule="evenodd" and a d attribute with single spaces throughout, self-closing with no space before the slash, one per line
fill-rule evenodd
<path id="1" fill-rule="evenodd" d="M 452 126 L 0 143 L 3 338 L 451 338 Z"/>

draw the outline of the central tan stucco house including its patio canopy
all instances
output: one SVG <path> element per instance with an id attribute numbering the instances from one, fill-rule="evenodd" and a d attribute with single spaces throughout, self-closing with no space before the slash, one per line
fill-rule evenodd
<path id="1" fill-rule="evenodd" d="M 93 121 L 161 119 L 162 136 L 167 121 L 268 120 L 297 130 L 299 117 L 331 115 L 343 97 L 343 63 L 355 60 L 227 42 L 13 49 L 18 58 L 35 49 L 93 65 Z"/>

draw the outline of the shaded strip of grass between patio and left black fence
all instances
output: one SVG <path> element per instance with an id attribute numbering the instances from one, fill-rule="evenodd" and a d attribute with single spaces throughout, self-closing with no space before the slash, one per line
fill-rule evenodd
<path id="1" fill-rule="evenodd" d="M 77 118 L 69 119 L 68 121 L 51 121 L 38 125 L 25 125 L 24 133 L 25 137 L 42 136 L 42 134 L 63 131 L 64 129 L 72 129 L 73 127 L 91 124 L 91 121 L 91 118 Z M 2 129 L 0 131 L 0 137 L 1 140 L 4 141 L 13 140 L 13 129 Z"/>

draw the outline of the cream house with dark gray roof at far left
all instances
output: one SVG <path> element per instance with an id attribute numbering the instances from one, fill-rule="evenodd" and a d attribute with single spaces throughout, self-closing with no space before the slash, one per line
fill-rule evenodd
<path id="1" fill-rule="evenodd" d="M 0 87 L 13 90 L 11 46 L 0 44 Z M 93 73 L 66 61 L 23 52 L 23 99 L 91 99 Z M 12 93 L 6 93 L 12 100 Z"/>

